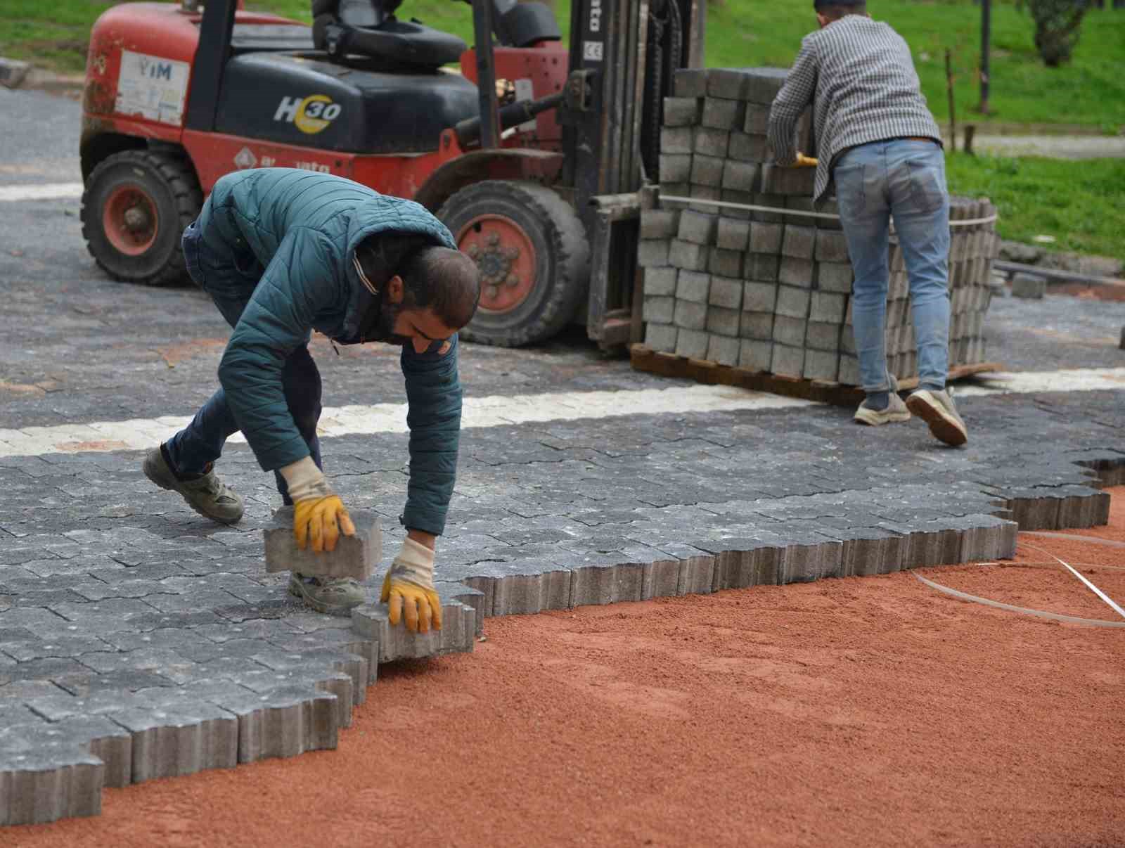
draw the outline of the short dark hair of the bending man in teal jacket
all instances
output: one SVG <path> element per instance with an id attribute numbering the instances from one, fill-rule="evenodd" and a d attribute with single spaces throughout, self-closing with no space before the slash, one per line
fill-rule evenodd
<path id="1" fill-rule="evenodd" d="M 480 303 L 477 263 L 450 247 L 423 247 L 398 267 L 407 308 L 432 309 L 447 327 L 460 330 Z"/>

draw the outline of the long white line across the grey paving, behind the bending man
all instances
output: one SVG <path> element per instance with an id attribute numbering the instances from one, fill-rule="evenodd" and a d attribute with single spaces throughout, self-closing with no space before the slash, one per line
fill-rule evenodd
<path id="1" fill-rule="evenodd" d="M 1084 368 L 1071 371 L 1002 372 L 987 375 L 990 385 L 958 387 L 955 397 L 1030 394 L 1040 391 L 1125 390 L 1125 368 Z M 810 400 L 746 391 L 730 386 L 674 386 L 621 391 L 557 391 L 541 395 L 468 397 L 461 426 L 501 427 L 549 421 L 786 409 L 818 406 Z M 191 421 L 190 416 L 96 421 L 53 427 L 0 428 L 0 458 L 39 457 L 78 451 L 137 451 L 156 445 Z M 317 432 L 322 439 L 375 433 L 405 433 L 405 404 L 325 407 Z M 232 442 L 244 441 L 241 434 Z"/>

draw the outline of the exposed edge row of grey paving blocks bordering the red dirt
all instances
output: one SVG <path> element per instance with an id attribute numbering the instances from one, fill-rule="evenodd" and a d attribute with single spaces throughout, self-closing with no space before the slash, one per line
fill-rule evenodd
<path id="1" fill-rule="evenodd" d="M 1125 482 L 1125 460 L 1080 464 L 1097 477 L 1091 485 Z M 934 521 L 921 530 L 822 529 L 780 544 L 726 539 L 650 562 L 443 583 L 444 626 L 429 634 L 392 629 L 384 605 L 362 606 L 353 612 L 351 638 L 342 629 L 338 650 L 317 655 L 328 667 L 278 675 L 285 685 L 240 696 L 183 688 L 156 711 L 44 716 L 57 721 L 28 732 L 15 754 L 0 757 L 0 824 L 97 815 L 104 786 L 335 748 L 339 729 L 351 724 L 379 664 L 471 651 L 488 616 L 1005 559 L 1015 554 L 1018 530 L 1108 522 L 1109 495 L 1095 488 L 1070 486 L 1062 496 L 1042 488 L 990 494 L 994 513 Z"/>

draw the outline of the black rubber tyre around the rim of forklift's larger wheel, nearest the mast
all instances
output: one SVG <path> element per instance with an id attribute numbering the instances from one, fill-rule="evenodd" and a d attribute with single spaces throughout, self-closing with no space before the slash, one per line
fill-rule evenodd
<path id="1" fill-rule="evenodd" d="M 493 192 L 508 195 L 508 199 L 525 206 L 538 219 L 549 222 L 543 234 L 555 251 L 555 279 L 542 310 L 522 327 L 506 332 L 482 332 L 472 324 L 461 330 L 461 337 L 501 348 L 519 348 L 542 342 L 566 326 L 587 291 L 590 277 L 590 242 L 586 229 L 574 207 L 546 186 L 524 180 L 486 180 L 477 182 L 450 197 L 438 211 L 448 220 L 458 209 L 478 199 L 494 197 Z M 456 233 L 453 234 L 456 237 Z"/>

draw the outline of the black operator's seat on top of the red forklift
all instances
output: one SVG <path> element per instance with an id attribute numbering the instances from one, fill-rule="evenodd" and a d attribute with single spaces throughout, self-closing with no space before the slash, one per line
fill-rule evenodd
<path id="1" fill-rule="evenodd" d="M 313 0 L 313 42 L 339 61 L 360 55 L 411 70 L 435 69 L 460 60 L 468 45 L 456 35 L 394 11 L 402 0 Z"/>

